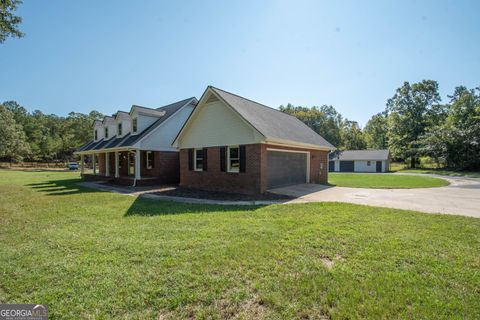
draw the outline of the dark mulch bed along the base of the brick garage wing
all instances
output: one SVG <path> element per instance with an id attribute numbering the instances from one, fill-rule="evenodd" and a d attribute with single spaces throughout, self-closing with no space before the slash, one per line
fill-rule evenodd
<path id="1" fill-rule="evenodd" d="M 196 198 L 196 199 L 207 199 L 207 200 L 225 200 L 225 201 L 262 201 L 262 200 L 272 201 L 272 200 L 293 199 L 293 197 L 289 197 L 281 194 L 269 193 L 269 192 L 266 192 L 264 194 L 246 195 L 246 194 L 227 193 L 227 192 L 205 191 L 205 190 L 189 189 L 189 188 L 182 188 L 182 187 L 160 190 L 158 192 L 155 192 L 155 194 L 158 194 L 161 196 Z"/>

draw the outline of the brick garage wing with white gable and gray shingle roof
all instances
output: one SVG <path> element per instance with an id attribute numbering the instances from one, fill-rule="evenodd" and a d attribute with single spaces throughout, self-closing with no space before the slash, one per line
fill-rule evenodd
<path id="1" fill-rule="evenodd" d="M 297 118 L 211 86 L 172 145 L 181 186 L 244 194 L 327 183 L 334 149 Z"/>

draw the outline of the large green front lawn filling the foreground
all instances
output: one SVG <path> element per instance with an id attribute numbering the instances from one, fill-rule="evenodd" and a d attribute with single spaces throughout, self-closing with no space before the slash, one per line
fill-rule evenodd
<path id="1" fill-rule="evenodd" d="M 480 219 L 228 207 L 0 170 L 0 302 L 52 319 L 479 319 Z"/>

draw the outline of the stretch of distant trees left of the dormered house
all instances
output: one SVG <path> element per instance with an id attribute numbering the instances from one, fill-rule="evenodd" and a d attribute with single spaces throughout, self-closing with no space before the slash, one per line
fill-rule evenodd
<path id="1" fill-rule="evenodd" d="M 0 104 L 0 160 L 68 161 L 92 139 L 98 111 L 70 112 L 66 117 L 28 112 L 15 101 Z"/>

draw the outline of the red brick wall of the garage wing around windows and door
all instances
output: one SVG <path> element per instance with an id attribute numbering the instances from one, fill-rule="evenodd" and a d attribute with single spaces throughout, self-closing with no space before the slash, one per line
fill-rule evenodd
<path id="1" fill-rule="evenodd" d="M 230 173 L 220 170 L 220 147 L 209 147 L 208 170 L 188 169 L 188 149 L 180 150 L 180 185 L 211 191 L 254 194 L 267 190 L 267 148 L 310 152 L 310 182 L 327 183 L 328 151 L 304 148 L 246 145 L 245 172 Z"/>

